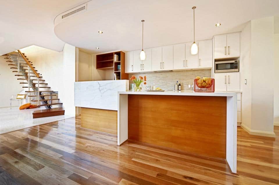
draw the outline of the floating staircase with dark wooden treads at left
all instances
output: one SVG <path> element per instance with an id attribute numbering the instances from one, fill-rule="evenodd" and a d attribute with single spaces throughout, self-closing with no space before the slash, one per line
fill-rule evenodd
<path id="1" fill-rule="evenodd" d="M 17 51 L 3 55 L 6 56 L 8 66 L 12 69 L 12 73 L 17 73 L 15 76 L 19 77 L 17 80 L 20 80 L 19 84 L 23 85 L 28 102 L 38 107 L 46 107 L 45 110 L 34 111 L 33 118 L 64 115 L 64 109 L 57 107 L 62 106 L 58 92 L 50 91 L 51 87 L 47 86 L 48 83 L 45 83 L 42 74 L 35 70 L 33 63 L 26 58 L 24 53 Z"/>

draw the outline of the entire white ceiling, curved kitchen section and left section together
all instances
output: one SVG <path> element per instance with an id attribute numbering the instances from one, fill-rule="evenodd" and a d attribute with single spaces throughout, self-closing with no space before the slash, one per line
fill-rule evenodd
<path id="1" fill-rule="evenodd" d="M 197 6 L 196 40 L 240 31 L 251 19 L 279 15 L 278 0 L 92 0 L 87 12 L 54 28 L 58 14 L 86 1 L 1 1 L 0 54 L 30 45 L 62 51 L 65 43 L 94 53 L 137 50 L 141 48 L 142 19 L 144 48 L 192 42 L 192 6 Z M 221 28 L 214 27 L 218 21 Z"/>

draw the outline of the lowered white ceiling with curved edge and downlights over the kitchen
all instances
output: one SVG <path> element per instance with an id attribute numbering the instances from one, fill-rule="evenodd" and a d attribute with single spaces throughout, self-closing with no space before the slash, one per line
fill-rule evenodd
<path id="1" fill-rule="evenodd" d="M 142 19 L 144 48 L 192 42 L 192 6 L 197 7 L 196 40 L 241 31 L 251 19 L 279 14 L 278 0 L 118 0 L 103 6 L 96 6 L 96 1 L 87 4 L 87 12 L 62 21 L 54 30 L 62 41 L 94 53 L 141 49 Z M 221 27 L 215 28 L 218 21 Z M 100 35 L 98 30 L 104 33 Z"/>

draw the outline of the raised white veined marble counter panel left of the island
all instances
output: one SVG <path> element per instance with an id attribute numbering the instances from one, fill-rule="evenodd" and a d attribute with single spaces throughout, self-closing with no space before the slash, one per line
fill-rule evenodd
<path id="1" fill-rule="evenodd" d="M 128 91 L 129 80 L 75 82 L 76 107 L 117 110 L 117 92 Z"/>

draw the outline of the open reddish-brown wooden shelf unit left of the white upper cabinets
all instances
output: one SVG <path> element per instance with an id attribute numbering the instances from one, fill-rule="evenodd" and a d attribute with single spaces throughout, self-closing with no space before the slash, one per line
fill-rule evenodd
<path id="1" fill-rule="evenodd" d="M 114 60 L 114 55 L 118 56 L 118 61 Z M 120 65 L 120 70 L 117 66 Z M 114 74 L 120 76 L 120 80 L 128 80 L 129 75 L 125 73 L 125 53 L 122 51 L 96 55 L 96 69 L 113 69 Z"/>

